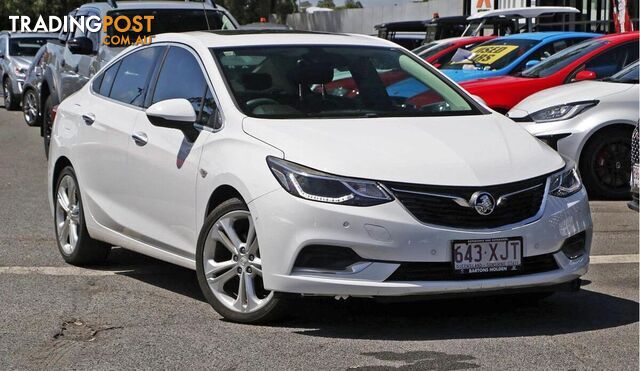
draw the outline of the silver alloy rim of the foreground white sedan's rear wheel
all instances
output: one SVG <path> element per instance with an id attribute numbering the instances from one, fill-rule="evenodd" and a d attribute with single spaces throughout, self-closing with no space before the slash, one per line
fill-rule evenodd
<path id="1" fill-rule="evenodd" d="M 56 229 L 62 251 L 71 255 L 78 244 L 80 204 L 78 187 L 70 175 L 65 175 L 56 192 Z"/>

